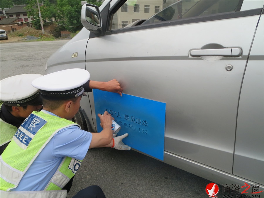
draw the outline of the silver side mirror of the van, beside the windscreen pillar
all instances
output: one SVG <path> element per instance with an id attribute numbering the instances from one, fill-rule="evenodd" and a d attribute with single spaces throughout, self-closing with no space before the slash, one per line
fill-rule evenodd
<path id="1" fill-rule="evenodd" d="M 102 32 L 102 20 L 98 6 L 84 4 L 81 10 L 82 25 L 90 32 L 100 35 Z"/>

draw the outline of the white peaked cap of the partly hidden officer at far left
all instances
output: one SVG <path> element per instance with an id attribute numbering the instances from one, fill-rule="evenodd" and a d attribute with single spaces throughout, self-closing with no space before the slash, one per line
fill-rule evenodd
<path id="1" fill-rule="evenodd" d="M 39 90 L 31 82 L 41 74 L 21 74 L 0 81 L 0 100 L 9 106 L 40 105 Z M 36 104 L 33 104 L 36 103 Z"/>

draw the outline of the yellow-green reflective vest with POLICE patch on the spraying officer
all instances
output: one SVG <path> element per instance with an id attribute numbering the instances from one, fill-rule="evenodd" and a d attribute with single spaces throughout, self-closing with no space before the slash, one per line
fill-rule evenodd
<path id="1" fill-rule="evenodd" d="M 44 111 L 34 111 L 30 114 L 0 156 L 0 189 L 9 191 L 16 188 L 34 159 L 55 133 L 72 125 L 77 124 Z M 75 175 L 81 162 L 82 160 L 65 157 L 44 191 L 60 191 Z"/>

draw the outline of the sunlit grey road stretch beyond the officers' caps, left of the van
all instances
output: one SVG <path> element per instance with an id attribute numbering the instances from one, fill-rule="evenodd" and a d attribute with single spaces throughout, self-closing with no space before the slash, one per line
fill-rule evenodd
<path id="1" fill-rule="evenodd" d="M 0 45 L 0 79 L 28 73 L 45 75 L 48 57 L 67 41 L 2 43 Z"/>

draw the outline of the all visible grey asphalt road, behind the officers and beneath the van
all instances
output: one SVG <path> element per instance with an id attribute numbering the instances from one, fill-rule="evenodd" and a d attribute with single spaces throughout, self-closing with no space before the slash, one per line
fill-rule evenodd
<path id="1" fill-rule="evenodd" d="M 48 57 L 67 40 L 4 43 L 0 45 L 0 77 L 39 73 L 45 75 Z M 89 185 L 99 185 L 107 198 L 208 197 L 210 181 L 134 150 L 93 148 L 75 175 L 72 197 Z M 219 186 L 218 197 L 222 197 Z"/>

